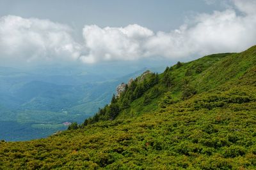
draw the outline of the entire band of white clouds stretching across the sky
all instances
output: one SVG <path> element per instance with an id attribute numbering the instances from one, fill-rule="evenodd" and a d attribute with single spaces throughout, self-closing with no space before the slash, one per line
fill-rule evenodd
<path id="1" fill-rule="evenodd" d="M 49 20 L 0 18 L 0 57 L 8 60 L 77 60 L 93 63 L 145 57 L 202 56 L 240 52 L 256 44 L 256 1 L 230 0 L 227 10 L 201 13 L 170 32 L 127 27 L 85 25 L 84 43 L 72 38 L 67 25 Z M 233 6 L 233 7 L 232 7 Z"/>

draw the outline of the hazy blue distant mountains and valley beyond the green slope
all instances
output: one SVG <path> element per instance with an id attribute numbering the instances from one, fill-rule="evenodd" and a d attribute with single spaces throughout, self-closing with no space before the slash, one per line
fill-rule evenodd
<path id="1" fill-rule="evenodd" d="M 56 70 L 52 76 L 47 71 L 0 67 L 0 118 L 1 128 L 5 127 L 0 138 L 42 138 L 66 129 L 63 122 L 81 123 L 109 103 L 118 83 L 142 73 L 137 71 L 106 81 L 89 72 L 84 75 L 84 71 L 75 70 L 66 74 L 65 68 Z"/>

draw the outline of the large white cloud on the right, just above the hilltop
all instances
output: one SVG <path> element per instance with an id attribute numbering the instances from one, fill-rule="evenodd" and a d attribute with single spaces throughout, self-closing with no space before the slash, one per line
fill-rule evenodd
<path id="1" fill-rule="evenodd" d="M 170 33 L 158 32 L 148 40 L 148 52 L 168 58 L 240 52 L 256 43 L 255 19 L 237 16 L 234 10 L 200 14 L 192 27 L 183 25 Z"/>

